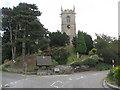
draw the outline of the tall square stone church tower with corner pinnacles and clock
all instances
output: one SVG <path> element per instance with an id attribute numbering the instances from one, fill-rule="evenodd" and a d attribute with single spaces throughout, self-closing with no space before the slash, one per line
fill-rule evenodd
<path id="1" fill-rule="evenodd" d="M 73 10 L 63 10 L 61 7 L 61 32 L 65 32 L 70 37 L 70 44 L 76 36 L 75 14 L 75 7 Z"/>

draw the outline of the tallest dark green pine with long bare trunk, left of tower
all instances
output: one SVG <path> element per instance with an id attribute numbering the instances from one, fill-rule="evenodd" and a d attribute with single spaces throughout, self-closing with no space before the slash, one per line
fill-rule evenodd
<path id="1" fill-rule="evenodd" d="M 13 9 L 15 11 L 15 19 L 18 21 L 17 24 L 19 29 L 22 31 L 22 56 L 23 62 L 25 61 L 26 54 L 26 42 L 28 40 L 29 32 L 31 30 L 31 24 L 37 23 L 37 16 L 40 16 L 40 12 L 35 4 L 20 3 Z M 35 21 L 35 22 L 34 22 Z"/>

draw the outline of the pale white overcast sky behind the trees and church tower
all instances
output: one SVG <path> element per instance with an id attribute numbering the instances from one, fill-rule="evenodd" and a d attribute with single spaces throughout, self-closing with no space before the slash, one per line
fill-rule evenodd
<path id="1" fill-rule="evenodd" d="M 118 37 L 118 1 L 119 0 L 2 0 L 1 7 L 17 6 L 20 2 L 36 4 L 42 15 L 41 23 L 49 31 L 61 30 L 61 6 L 76 12 L 76 30 Z"/>

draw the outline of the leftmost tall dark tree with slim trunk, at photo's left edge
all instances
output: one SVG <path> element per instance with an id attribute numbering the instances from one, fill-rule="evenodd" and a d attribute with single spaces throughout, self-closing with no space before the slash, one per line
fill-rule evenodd
<path id="1" fill-rule="evenodd" d="M 5 45 L 3 47 L 6 47 L 7 45 L 8 45 L 8 47 L 3 49 L 3 54 L 5 53 L 4 50 L 7 50 L 7 49 L 11 48 L 12 54 L 9 54 L 7 57 L 10 57 L 10 55 L 12 55 L 12 60 L 14 60 L 15 55 L 16 55 L 16 46 L 15 46 L 15 44 L 16 44 L 16 36 L 17 36 L 17 35 L 15 35 L 16 33 L 13 32 L 13 29 L 16 29 L 16 27 L 15 27 L 15 25 L 13 23 L 13 21 L 14 21 L 13 18 L 15 16 L 15 14 L 14 14 L 14 11 L 11 8 L 2 8 L 2 14 L 3 14 L 3 18 L 2 18 L 3 30 L 8 31 L 8 33 L 9 33 L 9 34 L 7 33 L 9 38 L 6 37 L 6 36 L 4 37 L 8 41 L 6 42 L 6 40 L 5 40 L 3 42 L 3 44 Z M 10 50 L 8 50 L 8 51 L 10 51 Z"/>

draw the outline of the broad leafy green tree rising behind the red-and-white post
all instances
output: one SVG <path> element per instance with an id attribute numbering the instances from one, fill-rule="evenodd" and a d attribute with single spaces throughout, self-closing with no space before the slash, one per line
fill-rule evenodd
<path id="1" fill-rule="evenodd" d="M 118 40 L 104 34 L 96 36 L 94 43 L 97 54 L 104 58 L 104 62 L 111 64 L 113 59 L 118 60 Z"/>

